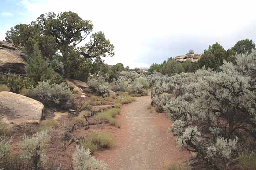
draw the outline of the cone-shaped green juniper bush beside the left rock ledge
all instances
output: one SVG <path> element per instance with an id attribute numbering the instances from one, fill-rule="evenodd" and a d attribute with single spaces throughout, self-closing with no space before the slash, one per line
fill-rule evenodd
<path id="1" fill-rule="evenodd" d="M 49 65 L 47 60 L 44 60 L 37 44 L 34 44 L 34 51 L 26 65 L 27 76 L 31 78 L 34 85 L 37 82 L 50 80 L 51 83 L 60 83 L 61 76 L 56 73 Z"/>

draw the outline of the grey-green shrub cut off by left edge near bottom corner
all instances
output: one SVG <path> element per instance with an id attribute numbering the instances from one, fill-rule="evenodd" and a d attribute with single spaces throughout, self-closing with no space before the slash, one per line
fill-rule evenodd
<path id="1" fill-rule="evenodd" d="M 11 154 L 11 141 L 12 138 L 7 138 L 4 135 L 0 135 L 0 164 L 5 162 Z"/>

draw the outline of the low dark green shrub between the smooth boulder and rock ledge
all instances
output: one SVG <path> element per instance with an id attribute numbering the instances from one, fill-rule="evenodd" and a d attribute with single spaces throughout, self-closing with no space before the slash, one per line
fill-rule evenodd
<path id="1" fill-rule="evenodd" d="M 22 88 L 30 88 L 33 85 L 29 77 L 12 73 L 0 74 L 0 84 L 7 85 L 14 93 L 19 93 Z"/>

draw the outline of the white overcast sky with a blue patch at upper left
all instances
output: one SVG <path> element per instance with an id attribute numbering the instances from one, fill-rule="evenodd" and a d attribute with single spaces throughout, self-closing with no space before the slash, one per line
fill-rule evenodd
<path id="1" fill-rule="evenodd" d="M 15 4 L 16 7 L 13 7 Z M 106 63 L 148 67 L 218 42 L 256 42 L 256 0 L 0 0 L 0 39 L 40 14 L 74 11 L 115 46 Z"/>

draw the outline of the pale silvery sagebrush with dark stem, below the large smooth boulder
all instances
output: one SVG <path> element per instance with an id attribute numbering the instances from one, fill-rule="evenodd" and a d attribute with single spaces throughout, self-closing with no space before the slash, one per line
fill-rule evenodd
<path id="1" fill-rule="evenodd" d="M 47 131 L 38 132 L 31 138 L 24 135 L 20 143 L 21 159 L 31 162 L 35 170 L 46 167 L 48 160 L 46 148 L 49 140 L 50 136 Z"/>

